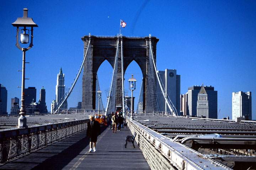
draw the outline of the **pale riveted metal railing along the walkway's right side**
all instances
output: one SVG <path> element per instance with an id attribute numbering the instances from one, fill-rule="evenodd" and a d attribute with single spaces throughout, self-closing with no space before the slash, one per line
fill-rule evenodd
<path id="1" fill-rule="evenodd" d="M 132 134 L 152 170 L 226 169 L 227 166 L 126 118 Z"/>

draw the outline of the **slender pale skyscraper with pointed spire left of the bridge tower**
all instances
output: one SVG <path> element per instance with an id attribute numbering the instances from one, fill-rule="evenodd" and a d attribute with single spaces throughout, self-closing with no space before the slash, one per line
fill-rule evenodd
<path id="1" fill-rule="evenodd" d="M 65 97 L 65 75 L 62 73 L 62 68 L 60 68 L 60 72 L 57 75 L 57 85 L 56 85 L 56 103 L 60 104 L 64 100 Z M 67 109 L 68 102 L 65 101 L 61 107 L 61 109 Z"/>

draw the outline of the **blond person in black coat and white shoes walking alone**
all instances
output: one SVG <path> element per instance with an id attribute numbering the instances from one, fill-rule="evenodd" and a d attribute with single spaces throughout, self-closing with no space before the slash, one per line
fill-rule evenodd
<path id="1" fill-rule="evenodd" d="M 97 136 L 100 134 L 100 123 L 95 121 L 94 116 L 90 115 L 90 121 L 87 123 L 86 135 L 90 138 L 90 149 L 89 152 L 92 152 L 92 142 L 93 142 L 93 151 L 96 152 L 96 142 Z"/>

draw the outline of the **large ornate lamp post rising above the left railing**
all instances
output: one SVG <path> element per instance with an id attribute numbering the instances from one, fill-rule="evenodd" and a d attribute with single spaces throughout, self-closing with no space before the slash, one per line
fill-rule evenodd
<path id="1" fill-rule="evenodd" d="M 22 58 L 22 81 L 21 81 L 21 108 L 20 108 L 20 118 L 18 119 L 18 128 L 26 128 L 27 127 L 27 119 L 25 117 L 26 109 L 25 109 L 25 64 L 26 64 L 26 51 L 32 48 L 33 46 L 33 27 L 38 27 L 36 23 L 33 22 L 32 18 L 28 18 L 28 9 L 23 9 L 23 17 L 18 17 L 17 20 L 12 23 L 14 27 L 17 27 L 17 35 L 16 35 L 16 46 L 23 53 Z M 23 27 L 23 29 L 19 29 L 19 27 Z M 27 29 L 28 28 L 28 29 Z M 30 28 L 30 30 L 29 30 Z M 30 33 L 30 45 L 27 48 L 22 48 L 21 44 L 28 44 L 29 42 L 29 33 Z M 20 34 L 20 35 L 19 35 Z M 20 37 L 20 42 L 19 42 Z"/>

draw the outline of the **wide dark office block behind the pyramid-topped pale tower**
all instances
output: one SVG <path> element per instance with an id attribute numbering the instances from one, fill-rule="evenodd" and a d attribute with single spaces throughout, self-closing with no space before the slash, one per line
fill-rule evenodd
<path id="1" fill-rule="evenodd" d="M 187 106 L 188 109 L 186 111 L 186 115 L 197 116 L 197 101 L 198 101 L 198 93 L 200 92 L 202 86 L 192 86 L 188 88 L 187 92 Z M 208 118 L 217 119 L 218 113 L 218 92 L 214 90 L 213 86 L 203 86 L 204 90 L 207 93 L 208 99 Z M 202 94 L 201 94 L 202 95 Z M 199 96 L 201 96 L 199 95 Z M 204 101 L 199 101 L 204 102 Z"/>

